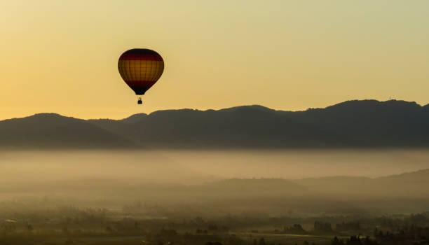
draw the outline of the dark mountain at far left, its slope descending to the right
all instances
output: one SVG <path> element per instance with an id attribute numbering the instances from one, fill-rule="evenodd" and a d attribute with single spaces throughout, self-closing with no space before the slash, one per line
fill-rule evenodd
<path id="1" fill-rule="evenodd" d="M 1 148 L 132 148 L 135 143 L 86 120 L 55 113 L 0 121 Z"/>

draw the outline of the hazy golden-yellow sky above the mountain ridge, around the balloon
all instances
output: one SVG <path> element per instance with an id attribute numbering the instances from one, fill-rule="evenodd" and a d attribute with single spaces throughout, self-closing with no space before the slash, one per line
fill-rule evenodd
<path id="1" fill-rule="evenodd" d="M 0 1 L 0 118 L 429 103 L 429 1 Z M 119 55 L 165 60 L 143 106 Z"/>

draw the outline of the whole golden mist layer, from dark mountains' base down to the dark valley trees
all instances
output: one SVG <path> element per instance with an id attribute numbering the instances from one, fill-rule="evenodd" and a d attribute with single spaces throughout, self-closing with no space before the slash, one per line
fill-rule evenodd
<path id="1" fill-rule="evenodd" d="M 390 175 L 428 168 L 425 150 L 4 151 L 0 200 L 128 211 L 137 202 L 159 216 L 425 211 L 429 175 Z"/>

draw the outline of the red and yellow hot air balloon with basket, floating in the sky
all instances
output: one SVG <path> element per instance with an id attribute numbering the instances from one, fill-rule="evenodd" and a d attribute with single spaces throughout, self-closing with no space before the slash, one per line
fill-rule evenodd
<path id="1" fill-rule="evenodd" d="M 139 97 L 137 104 L 142 104 L 142 95 L 163 74 L 164 60 L 154 50 L 133 48 L 119 57 L 118 70 L 125 83 Z"/>

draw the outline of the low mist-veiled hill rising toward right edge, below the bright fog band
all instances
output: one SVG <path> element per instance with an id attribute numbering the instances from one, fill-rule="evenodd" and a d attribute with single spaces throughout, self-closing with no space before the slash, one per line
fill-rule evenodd
<path id="1" fill-rule="evenodd" d="M 307 197 L 365 200 L 414 198 L 429 200 L 429 169 L 379 178 L 330 176 L 312 179 L 229 179 L 200 186 L 205 193 L 257 197 Z M 222 194 L 221 194 L 222 193 Z M 240 193 L 240 194 L 238 194 Z M 214 194 L 212 194 L 214 195 Z"/>

